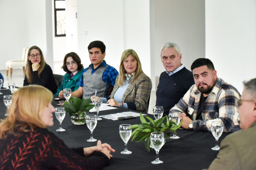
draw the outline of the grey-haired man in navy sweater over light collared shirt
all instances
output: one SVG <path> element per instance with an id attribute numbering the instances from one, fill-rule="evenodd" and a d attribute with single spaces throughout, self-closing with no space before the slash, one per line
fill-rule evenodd
<path id="1" fill-rule="evenodd" d="M 181 64 L 181 58 L 178 44 L 167 42 L 161 47 L 161 60 L 165 71 L 159 78 L 156 106 L 163 107 L 163 115 L 168 115 L 170 109 L 195 84 L 192 72 Z"/>

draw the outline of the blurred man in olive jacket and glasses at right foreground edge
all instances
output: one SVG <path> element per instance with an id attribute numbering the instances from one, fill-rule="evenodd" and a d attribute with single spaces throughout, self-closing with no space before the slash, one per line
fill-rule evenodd
<path id="1" fill-rule="evenodd" d="M 223 139 L 209 170 L 256 169 L 256 78 L 245 82 L 244 86 L 240 100 L 236 100 L 242 130 Z"/>

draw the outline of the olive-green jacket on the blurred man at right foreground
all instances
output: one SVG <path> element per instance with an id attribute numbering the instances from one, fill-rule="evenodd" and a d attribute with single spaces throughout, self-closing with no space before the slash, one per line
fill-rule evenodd
<path id="1" fill-rule="evenodd" d="M 221 150 L 209 170 L 256 169 L 256 121 L 247 130 L 228 135 L 221 142 Z"/>

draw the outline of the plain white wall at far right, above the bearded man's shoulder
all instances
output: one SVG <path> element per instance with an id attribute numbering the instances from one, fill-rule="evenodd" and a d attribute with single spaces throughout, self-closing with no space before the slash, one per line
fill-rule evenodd
<path id="1" fill-rule="evenodd" d="M 206 1 L 206 58 L 217 75 L 242 93 L 256 77 L 256 1 Z"/>

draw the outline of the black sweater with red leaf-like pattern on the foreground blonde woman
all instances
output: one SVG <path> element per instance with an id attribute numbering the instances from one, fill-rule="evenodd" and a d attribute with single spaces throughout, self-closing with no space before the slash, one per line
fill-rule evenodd
<path id="1" fill-rule="evenodd" d="M 16 134 L 0 139 L 0 170 L 98 170 L 110 163 L 98 151 L 84 157 L 83 147 L 70 149 L 47 129 Z"/>

